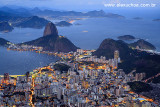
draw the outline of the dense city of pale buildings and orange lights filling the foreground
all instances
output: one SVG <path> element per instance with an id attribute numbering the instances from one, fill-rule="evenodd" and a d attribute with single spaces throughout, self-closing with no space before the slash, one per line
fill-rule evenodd
<path id="1" fill-rule="evenodd" d="M 0 106 L 70 107 L 155 107 L 152 99 L 130 90 L 127 82 L 139 81 L 145 74 L 125 74 L 114 58 L 92 56 L 92 51 L 56 53 L 61 61 L 26 75 L 0 78 Z M 64 71 L 55 68 L 63 64 Z M 61 66 L 62 67 L 62 66 Z"/>

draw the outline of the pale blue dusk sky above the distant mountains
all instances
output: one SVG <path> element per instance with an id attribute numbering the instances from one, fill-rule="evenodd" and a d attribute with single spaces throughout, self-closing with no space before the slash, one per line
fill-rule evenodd
<path id="1" fill-rule="evenodd" d="M 106 3 L 154 3 L 159 7 L 160 0 L 0 0 L 1 6 L 16 5 L 65 10 L 105 9 Z"/>

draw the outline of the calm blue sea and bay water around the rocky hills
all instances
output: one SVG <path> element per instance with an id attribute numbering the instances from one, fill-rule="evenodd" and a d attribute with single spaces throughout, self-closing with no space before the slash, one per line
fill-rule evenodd
<path id="1" fill-rule="evenodd" d="M 52 20 L 55 22 L 54 20 Z M 76 25 L 76 24 L 80 25 Z M 70 27 L 57 27 L 59 35 L 66 36 L 77 47 L 97 49 L 106 38 L 117 39 L 122 35 L 133 35 L 145 39 L 160 51 L 160 22 L 152 19 L 135 20 L 132 18 L 89 18 L 76 20 Z M 0 37 L 13 43 L 22 43 L 43 36 L 44 28 L 15 28 L 9 33 L 0 33 Z M 8 51 L 0 47 L 0 74 L 24 74 L 36 67 L 55 62 L 57 58 L 34 52 Z"/>

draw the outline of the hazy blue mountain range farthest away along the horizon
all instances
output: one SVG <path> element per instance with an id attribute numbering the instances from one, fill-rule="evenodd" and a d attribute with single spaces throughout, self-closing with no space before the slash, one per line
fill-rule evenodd
<path id="1" fill-rule="evenodd" d="M 12 16 L 21 16 L 21 17 L 31 17 L 31 16 L 52 16 L 52 17 L 60 17 L 60 16 L 88 16 L 88 17 L 110 17 L 110 18 L 125 18 L 122 15 L 113 14 L 113 13 L 105 13 L 103 10 L 97 11 L 89 11 L 89 12 L 77 12 L 77 11 L 54 11 L 54 10 L 41 10 L 38 7 L 34 9 L 26 9 L 26 8 L 18 8 L 12 9 L 9 7 L 1 7 L 1 12 L 6 12 Z"/>

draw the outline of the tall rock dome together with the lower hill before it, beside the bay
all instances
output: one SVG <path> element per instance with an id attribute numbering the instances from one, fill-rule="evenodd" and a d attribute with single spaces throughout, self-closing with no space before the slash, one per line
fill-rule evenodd
<path id="1" fill-rule="evenodd" d="M 23 44 L 42 46 L 44 50 L 53 52 L 70 52 L 77 49 L 66 37 L 58 36 L 57 28 L 51 22 L 46 25 L 43 37 Z"/>

